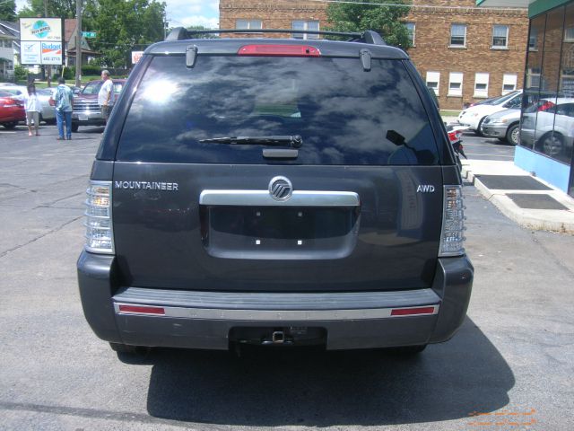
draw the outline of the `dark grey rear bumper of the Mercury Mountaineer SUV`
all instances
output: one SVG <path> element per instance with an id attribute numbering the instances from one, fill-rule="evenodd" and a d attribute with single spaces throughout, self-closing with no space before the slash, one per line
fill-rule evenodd
<path id="1" fill-rule="evenodd" d="M 83 311 L 101 339 L 136 346 L 227 349 L 237 328 L 320 328 L 326 348 L 396 347 L 452 337 L 465 319 L 473 267 L 439 259 L 428 289 L 322 294 L 223 293 L 118 286 L 113 256 L 83 251 Z M 143 307 L 123 311 L 125 305 Z M 161 308 L 158 315 L 145 307 Z M 121 308 L 120 308 L 121 307 Z M 401 315 L 416 308 L 420 315 Z"/>

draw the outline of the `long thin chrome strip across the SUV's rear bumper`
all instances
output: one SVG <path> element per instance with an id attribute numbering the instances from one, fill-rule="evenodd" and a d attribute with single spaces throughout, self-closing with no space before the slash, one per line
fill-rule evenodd
<path id="1" fill-rule="evenodd" d="M 439 314 L 439 304 L 417 305 L 415 307 L 392 307 L 363 310 L 222 310 L 214 308 L 185 308 L 154 305 L 164 309 L 165 314 L 146 314 L 120 312 L 120 305 L 139 305 L 137 303 L 114 303 L 114 310 L 120 315 L 143 315 L 152 317 L 172 317 L 182 319 L 207 319 L 218 321 L 349 321 L 370 319 L 396 319 L 405 317 L 433 316 Z M 433 307 L 428 314 L 391 316 L 393 310 Z"/>

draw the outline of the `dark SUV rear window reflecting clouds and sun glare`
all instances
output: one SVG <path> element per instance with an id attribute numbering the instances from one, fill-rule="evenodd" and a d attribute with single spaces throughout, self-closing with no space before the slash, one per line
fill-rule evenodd
<path id="1" fill-rule="evenodd" d="M 302 137 L 296 164 L 437 164 L 429 119 L 400 60 L 154 57 L 126 117 L 117 160 L 269 163 L 227 136 Z"/>

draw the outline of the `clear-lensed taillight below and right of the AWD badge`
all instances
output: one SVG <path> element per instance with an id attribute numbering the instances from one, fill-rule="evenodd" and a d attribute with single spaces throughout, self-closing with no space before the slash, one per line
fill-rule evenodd
<path id="1" fill-rule="evenodd" d="M 465 202 L 462 186 L 445 186 L 439 257 L 465 254 Z"/>

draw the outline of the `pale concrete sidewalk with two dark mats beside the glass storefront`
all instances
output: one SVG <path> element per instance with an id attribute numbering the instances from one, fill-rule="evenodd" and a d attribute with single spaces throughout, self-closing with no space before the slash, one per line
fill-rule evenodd
<path id="1" fill-rule="evenodd" d="M 528 229 L 574 234 L 574 198 L 513 162 L 463 160 L 471 182 L 502 214 Z"/>

